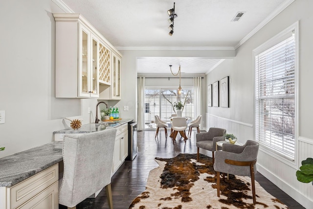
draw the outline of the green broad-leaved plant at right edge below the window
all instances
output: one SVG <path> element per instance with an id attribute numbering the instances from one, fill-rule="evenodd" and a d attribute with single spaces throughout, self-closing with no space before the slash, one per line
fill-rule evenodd
<path id="1" fill-rule="evenodd" d="M 301 164 L 300 170 L 297 170 L 295 173 L 297 180 L 303 183 L 312 182 L 313 185 L 313 159 L 307 158 L 303 160 Z"/>

